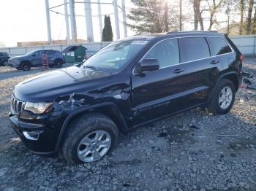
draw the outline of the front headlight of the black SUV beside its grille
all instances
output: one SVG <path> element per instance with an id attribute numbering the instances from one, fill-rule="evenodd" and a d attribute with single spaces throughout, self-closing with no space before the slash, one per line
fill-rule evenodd
<path id="1" fill-rule="evenodd" d="M 25 110 L 33 112 L 34 114 L 42 114 L 45 112 L 49 112 L 50 105 L 52 103 L 33 103 L 26 102 Z"/>

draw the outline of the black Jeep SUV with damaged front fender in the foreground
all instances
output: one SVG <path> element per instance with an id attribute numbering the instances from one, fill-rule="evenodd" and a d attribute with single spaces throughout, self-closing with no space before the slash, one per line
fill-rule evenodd
<path id="1" fill-rule="evenodd" d="M 80 66 L 16 85 L 10 120 L 37 154 L 99 160 L 120 133 L 197 106 L 226 114 L 243 55 L 225 34 L 171 32 L 121 39 Z"/>

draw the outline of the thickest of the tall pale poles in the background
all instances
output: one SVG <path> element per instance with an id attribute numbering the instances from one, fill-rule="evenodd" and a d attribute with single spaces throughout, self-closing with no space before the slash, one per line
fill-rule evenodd
<path id="1" fill-rule="evenodd" d="M 94 29 L 92 26 L 92 16 L 91 16 L 91 0 L 84 0 L 84 11 L 86 15 L 87 40 L 89 42 L 94 42 Z"/>

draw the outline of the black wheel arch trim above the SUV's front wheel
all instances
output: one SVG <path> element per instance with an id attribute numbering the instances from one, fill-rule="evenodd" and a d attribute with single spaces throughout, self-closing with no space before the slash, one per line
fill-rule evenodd
<path id="1" fill-rule="evenodd" d="M 89 106 L 86 108 L 78 109 L 77 111 L 69 114 L 69 116 L 64 121 L 64 124 L 62 125 L 61 131 L 59 133 L 59 139 L 56 144 L 56 152 L 58 152 L 59 149 L 61 148 L 61 144 L 64 141 L 64 136 L 67 133 L 67 128 L 69 124 L 72 121 L 83 116 L 84 114 L 89 114 L 89 113 L 105 114 L 105 116 L 110 117 L 110 119 L 113 120 L 113 122 L 116 124 L 116 127 L 118 128 L 118 131 L 120 133 L 127 134 L 129 132 L 127 128 L 127 123 L 125 122 L 123 115 L 118 109 L 118 106 L 116 106 L 113 103 L 97 104 L 95 106 Z"/>

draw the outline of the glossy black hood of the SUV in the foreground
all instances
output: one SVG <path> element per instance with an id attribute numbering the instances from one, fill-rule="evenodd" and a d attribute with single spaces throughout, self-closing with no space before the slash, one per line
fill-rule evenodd
<path id="1" fill-rule="evenodd" d="M 111 73 L 71 66 L 32 77 L 15 86 L 14 95 L 21 101 L 53 101 L 74 92 L 85 93 L 90 87 L 104 85 Z"/>

